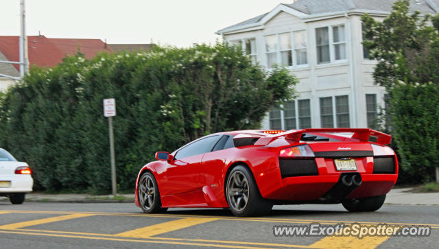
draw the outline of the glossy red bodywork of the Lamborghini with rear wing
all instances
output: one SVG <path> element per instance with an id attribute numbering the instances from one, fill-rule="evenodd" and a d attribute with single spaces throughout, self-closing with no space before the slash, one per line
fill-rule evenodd
<path id="1" fill-rule="evenodd" d="M 320 132 L 327 132 L 322 134 Z M 330 132 L 351 132 L 352 137 L 344 137 Z M 322 135 L 337 141 L 300 141 L 303 133 Z M 245 164 L 252 171 L 254 180 L 263 198 L 274 200 L 281 204 L 287 203 L 316 203 L 325 193 L 331 190 L 340 180 L 341 174 L 359 174 L 361 185 L 346 198 L 364 198 L 388 193 L 398 178 L 398 162 L 392 154 L 394 172 L 392 174 L 374 173 L 374 155 L 372 145 L 383 146 L 390 143 L 390 136 L 370 129 L 305 129 L 291 130 L 281 134 L 263 134 L 261 131 L 223 132 L 219 135 L 247 134 L 262 137 L 254 145 L 231 147 L 225 150 L 207 152 L 189 156 L 180 160 L 154 161 L 148 163 L 139 171 L 150 171 L 156 178 L 163 207 L 228 207 L 225 195 L 225 182 L 230 167 Z M 369 136 L 377 137 L 381 143 L 368 141 Z M 309 145 L 316 154 L 318 174 L 314 176 L 282 177 L 279 165 L 279 152 L 287 147 Z M 337 171 L 334 158 L 319 156 L 321 153 L 336 153 L 341 151 L 367 152 L 367 156 L 355 156 L 357 170 Z M 176 151 L 178 152 L 178 150 Z M 171 154 L 171 157 L 176 155 Z M 350 157 L 351 158 L 351 157 Z M 294 159 L 292 159 L 294 160 Z M 285 202 L 285 203 L 283 203 Z M 139 205 L 136 194 L 135 204 Z"/>

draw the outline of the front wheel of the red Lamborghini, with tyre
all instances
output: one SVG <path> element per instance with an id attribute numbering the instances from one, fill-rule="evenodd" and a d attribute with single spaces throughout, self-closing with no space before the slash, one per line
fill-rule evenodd
<path id="1" fill-rule="evenodd" d="M 167 210 L 161 208 L 156 178 L 150 172 L 141 176 L 139 185 L 137 185 L 137 195 L 144 213 L 160 213 Z"/>

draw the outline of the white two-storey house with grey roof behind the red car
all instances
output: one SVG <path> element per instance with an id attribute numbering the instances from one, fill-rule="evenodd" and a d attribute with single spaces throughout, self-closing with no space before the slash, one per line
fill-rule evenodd
<path id="1" fill-rule="evenodd" d="M 395 0 L 298 0 L 217 31 L 253 62 L 287 67 L 300 83 L 296 101 L 274 109 L 263 129 L 366 128 L 383 106 L 373 83 L 376 62 L 363 49 L 361 16 L 384 19 Z M 439 0 L 411 0 L 410 10 L 439 11 Z"/>

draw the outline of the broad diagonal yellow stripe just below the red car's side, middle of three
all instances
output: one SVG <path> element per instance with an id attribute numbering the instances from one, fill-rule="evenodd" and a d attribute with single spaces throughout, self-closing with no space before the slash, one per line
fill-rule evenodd
<path id="1" fill-rule="evenodd" d="M 206 222 L 212 222 L 218 220 L 217 218 L 183 218 L 180 220 L 172 220 L 170 222 L 163 222 L 161 224 L 155 224 L 152 226 L 145 226 L 143 228 L 137 228 L 129 230 L 123 233 L 118 233 L 117 237 L 132 237 L 132 238 L 148 238 L 154 235 L 160 235 L 162 233 L 168 233 L 174 230 L 180 230 L 189 226 L 195 226 Z"/>

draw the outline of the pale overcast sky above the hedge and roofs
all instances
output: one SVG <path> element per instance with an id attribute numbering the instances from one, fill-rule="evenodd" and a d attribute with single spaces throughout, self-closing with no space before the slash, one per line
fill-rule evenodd
<path id="1" fill-rule="evenodd" d="M 293 0 L 25 0 L 26 33 L 188 47 Z M 19 36 L 20 0 L 0 0 L 0 36 Z"/>

